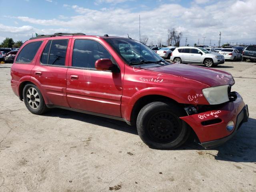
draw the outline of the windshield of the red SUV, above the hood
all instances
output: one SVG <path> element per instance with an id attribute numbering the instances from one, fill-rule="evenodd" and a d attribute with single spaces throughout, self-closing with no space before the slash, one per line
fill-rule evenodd
<path id="1" fill-rule="evenodd" d="M 132 39 L 106 39 L 127 64 L 141 61 L 158 62 L 163 60 L 148 46 Z"/>

